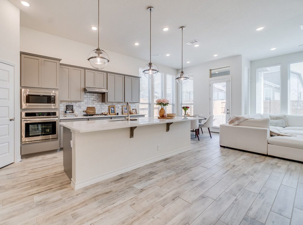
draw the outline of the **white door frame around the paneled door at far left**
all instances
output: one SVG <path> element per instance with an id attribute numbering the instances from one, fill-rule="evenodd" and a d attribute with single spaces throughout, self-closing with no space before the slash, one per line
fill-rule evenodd
<path id="1" fill-rule="evenodd" d="M 21 161 L 20 152 L 20 76 L 15 63 L 0 59 L 0 63 L 14 67 L 13 88 L 14 88 L 14 162 Z"/>

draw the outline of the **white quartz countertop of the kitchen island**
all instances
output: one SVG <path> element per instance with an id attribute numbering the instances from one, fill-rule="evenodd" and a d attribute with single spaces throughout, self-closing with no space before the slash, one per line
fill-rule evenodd
<path id="1" fill-rule="evenodd" d="M 157 117 L 139 117 L 135 121 L 108 121 L 108 120 L 91 120 L 91 121 L 71 121 L 60 122 L 60 125 L 78 133 L 105 131 L 119 128 L 138 127 L 153 124 L 165 124 L 171 122 L 182 122 L 198 120 L 198 117 L 176 116 L 174 119 L 158 119 Z"/>

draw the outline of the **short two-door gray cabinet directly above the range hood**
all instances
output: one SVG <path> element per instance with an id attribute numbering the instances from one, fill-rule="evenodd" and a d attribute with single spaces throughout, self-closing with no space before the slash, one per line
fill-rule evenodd
<path id="1" fill-rule="evenodd" d="M 106 88 L 107 73 L 95 70 L 85 70 L 85 87 Z"/>

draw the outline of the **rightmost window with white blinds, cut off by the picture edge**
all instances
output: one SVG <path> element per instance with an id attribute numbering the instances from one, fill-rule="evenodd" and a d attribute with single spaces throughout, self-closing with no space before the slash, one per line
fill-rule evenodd
<path id="1" fill-rule="evenodd" d="M 303 115 L 303 61 L 288 63 L 288 114 Z"/>

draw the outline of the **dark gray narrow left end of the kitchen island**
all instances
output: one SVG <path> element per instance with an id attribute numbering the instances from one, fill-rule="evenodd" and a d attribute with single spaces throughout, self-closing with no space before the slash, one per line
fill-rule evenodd
<path id="1" fill-rule="evenodd" d="M 72 132 L 69 128 L 63 127 L 63 167 L 69 179 L 72 179 Z"/>

